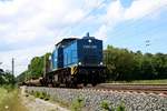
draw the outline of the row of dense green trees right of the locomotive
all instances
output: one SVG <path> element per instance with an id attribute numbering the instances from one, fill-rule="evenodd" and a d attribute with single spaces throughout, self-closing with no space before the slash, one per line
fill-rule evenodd
<path id="1" fill-rule="evenodd" d="M 167 79 L 167 54 L 132 52 L 108 46 L 104 51 L 109 81 Z"/>

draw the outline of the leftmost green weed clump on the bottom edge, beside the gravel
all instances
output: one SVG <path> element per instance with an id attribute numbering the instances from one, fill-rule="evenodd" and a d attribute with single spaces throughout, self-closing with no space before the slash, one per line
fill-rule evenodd
<path id="1" fill-rule="evenodd" d="M 81 109 L 84 108 L 84 104 L 85 104 L 84 98 L 78 97 L 77 99 L 72 101 L 71 111 L 81 111 Z"/>

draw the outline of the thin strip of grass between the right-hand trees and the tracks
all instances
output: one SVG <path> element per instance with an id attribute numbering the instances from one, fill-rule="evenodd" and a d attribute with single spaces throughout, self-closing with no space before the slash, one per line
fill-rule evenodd
<path id="1" fill-rule="evenodd" d="M 109 81 L 109 83 L 140 83 L 140 84 L 167 84 L 167 79 L 164 80 L 135 80 L 135 81 Z"/>

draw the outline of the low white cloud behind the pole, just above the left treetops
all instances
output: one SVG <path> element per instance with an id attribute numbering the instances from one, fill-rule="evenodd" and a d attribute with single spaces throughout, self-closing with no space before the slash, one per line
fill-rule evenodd
<path id="1" fill-rule="evenodd" d="M 24 71 L 33 57 L 43 56 L 46 52 L 51 52 L 52 46 L 35 47 L 31 49 L 14 50 L 0 52 L 0 68 L 11 71 L 11 59 L 14 58 L 14 73 L 16 75 Z"/>

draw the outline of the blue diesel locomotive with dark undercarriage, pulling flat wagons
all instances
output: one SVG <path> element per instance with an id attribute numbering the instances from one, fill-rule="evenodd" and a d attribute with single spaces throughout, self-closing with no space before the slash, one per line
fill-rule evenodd
<path id="1" fill-rule="evenodd" d="M 56 44 L 50 59 L 50 70 L 43 77 L 46 85 L 96 85 L 105 79 L 102 41 L 89 37 L 68 38 Z"/>

